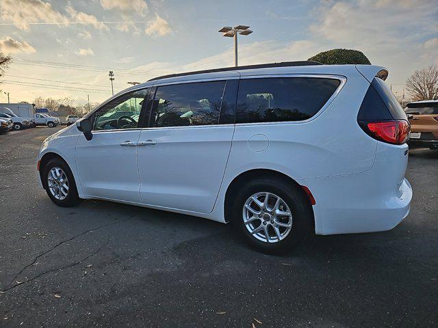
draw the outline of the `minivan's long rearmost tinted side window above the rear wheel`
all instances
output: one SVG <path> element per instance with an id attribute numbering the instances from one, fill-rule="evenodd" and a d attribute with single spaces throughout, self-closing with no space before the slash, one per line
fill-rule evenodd
<path id="1" fill-rule="evenodd" d="M 317 77 L 242 79 L 235 122 L 307 120 L 325 105 L 340 83 Z"/>

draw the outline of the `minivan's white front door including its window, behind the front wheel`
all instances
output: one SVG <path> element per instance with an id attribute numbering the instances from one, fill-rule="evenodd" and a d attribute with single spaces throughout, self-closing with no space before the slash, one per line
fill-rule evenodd
<path id="1" fill-rule="evenodd" d="M 147 89 L 123 94 L 103 105 L 90 119 L 92 139 L 80 135 L 76 166 L 83 193 L 124 202 L 140 202 L 136 142 L 139 115 Z"/>

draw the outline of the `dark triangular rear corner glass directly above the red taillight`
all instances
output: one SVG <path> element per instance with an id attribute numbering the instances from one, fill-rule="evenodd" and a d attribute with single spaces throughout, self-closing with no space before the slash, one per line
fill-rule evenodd
<path id="1" fill-rule="evenodd" d="M 385 81 L 374 77 L 363 98 L 358 120 L 407 120 L 396 96 Z"/>

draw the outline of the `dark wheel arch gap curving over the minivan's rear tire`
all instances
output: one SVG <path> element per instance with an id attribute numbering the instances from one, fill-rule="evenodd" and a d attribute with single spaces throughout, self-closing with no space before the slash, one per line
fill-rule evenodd
<path id="1" fill-rule="evenodd" d="M 250 169 L 248 171 L 242 172 L 239 175 L 235 176 L 235 178 L 230 182 L 230 184 L 227 187 L 227 191 L 225 192 L 224 197 L 224 217 L 227 219 L 229 217 L 229 209 L 231 208 L 231 202 L 233 200 L 232 195 L 235 193 L 238 187 L 240 187 L 245 182 L 251 180 L 252 178 L 259 178 L 259 177 L 271 177 L 271 178 L 281 178 L 286 179 L 291 184 L 296 185 L 300 188 L 302 191 L 302 194 L 305 195 L 305 198 L 309 201 L 309 206 L 311 208 L 313 217 L 312 217 L 312 224 L 313 224 L 313 231 L 315 231 L 315 215 L 313 213 L 313 206 L 311 206 L 311 201 L 309 200 L 309 195 L 305 192 L 304 189 L 302 189 L 302 186 L 296 182 L 292 177 L 288 176 L 287 174 L 281 173 L 279 171 L 276 171 L 274 169 Z"/>

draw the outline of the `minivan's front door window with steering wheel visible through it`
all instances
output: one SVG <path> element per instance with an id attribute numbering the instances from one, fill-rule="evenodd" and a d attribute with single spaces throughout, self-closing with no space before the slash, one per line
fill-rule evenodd
<path id="1" fill-rule="evenodd" d="M 137 128 L 147 89 L 136 90 L 108 102 L 94 114 L 94 131 Z"/>

